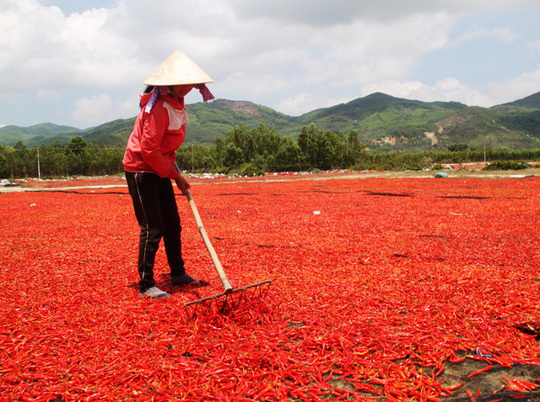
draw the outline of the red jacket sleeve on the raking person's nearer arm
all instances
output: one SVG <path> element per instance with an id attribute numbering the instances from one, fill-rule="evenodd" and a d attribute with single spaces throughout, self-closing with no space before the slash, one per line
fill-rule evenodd
<path id="1" fill-rule="evenodd" d="M 143 118 L 141 133 L 141 156 L 160 177 L 176 179 L 179 175 L 174 163 L 161 150 L 161 142 L 169 125 L 169 115 L 165 108 L 156 105 Z"/>

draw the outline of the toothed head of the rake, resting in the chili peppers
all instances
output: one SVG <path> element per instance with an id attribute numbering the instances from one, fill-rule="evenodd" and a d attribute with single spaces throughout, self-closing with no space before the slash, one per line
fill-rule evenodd
<path id="1" fill-rule="evenodd" d="M 236 289 L 228 289 L 224 293 L 204 297 L 184 304 L 184 310 L 190 320 L 199 314 L 209 315 L 217 312 L 227 315 L 237 310 L 242 304 L 247 304 L 255 299 L 264 299 L 270 290 L 271 279 L 243 286 Z"/>

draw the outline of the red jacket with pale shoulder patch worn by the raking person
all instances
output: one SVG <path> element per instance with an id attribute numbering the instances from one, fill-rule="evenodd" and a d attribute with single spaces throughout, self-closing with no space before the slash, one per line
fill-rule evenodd
<path id="1" fill-rule="evenodd" d="M 129 136 L 124 153 L 124 170 L 151 172 L 176 179 L 176 150 L 186 137 L 187 115 L 183 101 L 160 96 L 150 113 L 145 106 L 152 94 L 141 95 L 141 111 Z"/>

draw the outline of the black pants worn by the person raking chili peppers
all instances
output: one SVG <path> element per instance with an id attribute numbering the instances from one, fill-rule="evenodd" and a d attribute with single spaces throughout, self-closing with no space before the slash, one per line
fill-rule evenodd
<path id="1" fill-rule="evenodd" d="M 133 200 L 135 216 L 141 227 L 139 236 L 138 270 L 141 291 L 155 286 L 154 260 L 161 238 L 165 244 L 171 275 L 182 275 L 182 226 L 171 179 L 154 173 L 126 172 L 129 194 Z"/>

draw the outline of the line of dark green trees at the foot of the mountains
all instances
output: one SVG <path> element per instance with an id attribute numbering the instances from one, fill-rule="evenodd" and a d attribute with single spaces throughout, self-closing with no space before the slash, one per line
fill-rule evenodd
<path id="1" fill-rule="evenodd" d="M 0 178 L 116 175 L 123 172 L 123 155 L 123 147 L 87 143 L 82 137 L 72 138 L 67 145 L 56 141 L 30 149 L 22 142 L 14 147 L 0 145 Z M 539 149 L 481 150 L 466 144 L 452 144 L 442 152 L 373 153 L 356 131 L 334 133 L 311 124 L 294 139 L 263 124 L 253 129 L 240 124 L 212 146 L 180 147 L 176 159 L 189 172 L 259 175 L 315 169 L 419 170 L 446 163 L 533 161 L 539 157 Z"/>

